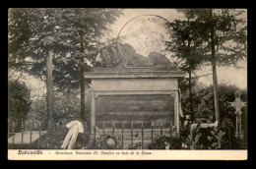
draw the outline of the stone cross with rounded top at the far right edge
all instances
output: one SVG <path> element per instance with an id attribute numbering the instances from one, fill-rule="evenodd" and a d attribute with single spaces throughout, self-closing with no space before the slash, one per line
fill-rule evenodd
<path id="1" fill-rule="evenodd" d="M 236 133 L 239 132 L 241 134 L 242 128 L 241 128 L 241 108 L 247 106 L 246 102 L 241 102 L 240 96 L 241 92 L 236 90 L 234 92 L 235 95 L 235 101 L 231 102 L 231 106 L 235 108 L 234 114 L 236 115 Z"/>

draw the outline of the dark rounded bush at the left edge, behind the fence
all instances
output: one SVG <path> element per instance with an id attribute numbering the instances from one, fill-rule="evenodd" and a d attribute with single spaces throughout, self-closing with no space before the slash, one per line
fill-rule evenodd
<path id="1" fill-rule="evenodd" d="M 8 127 L 15 123 L 15 132 L 21 130 L 22 123 L 31 109 L 31 91 L 26 84 L 8 81 Z"/>

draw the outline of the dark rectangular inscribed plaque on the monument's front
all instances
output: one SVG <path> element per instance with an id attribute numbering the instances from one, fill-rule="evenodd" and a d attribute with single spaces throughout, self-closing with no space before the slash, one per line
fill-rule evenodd
<path id="1" fill-rule="evenodd" d="M 111 128 L 113 122 L 115 128 L 130 128 L 133 122 L 134 128 L 141 128 L 142 122 L 145 128 L 151 128 L 151 122 L 155 126 L 168 127 L 170 121 L 174 123 L 174 98 L 169 94 L 144 94 L 144 95 L 99 95 L 96 98 L 96 127 Z"/>

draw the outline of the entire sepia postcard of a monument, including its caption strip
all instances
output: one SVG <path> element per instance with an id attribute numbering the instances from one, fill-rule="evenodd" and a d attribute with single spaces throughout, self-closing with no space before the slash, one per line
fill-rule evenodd
<path id="1" fill-rule="evenodd" d="M 247 9 L 10 8 L 9 160 L 246 160 Z"/>

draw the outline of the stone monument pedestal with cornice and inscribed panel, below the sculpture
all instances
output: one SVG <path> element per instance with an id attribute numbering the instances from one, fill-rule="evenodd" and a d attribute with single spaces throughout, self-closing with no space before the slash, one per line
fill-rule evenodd
<path id="1" fill-rule="evenodd" d="M 147 130 L 154 122 L 156 131 L 160 125 L 167 130 L 174 125 L 179 133 L 178 78 L 181 77 L 184 72 L 160 68 L 95 68 L 87 73 L 86 79 L 92 81 L 92 137 L 95 128 L 111 131 L 113 123 L 116 130 L 123 125 L 128 131 L 132 123 L 139 131 L 142 123 Z"/>

